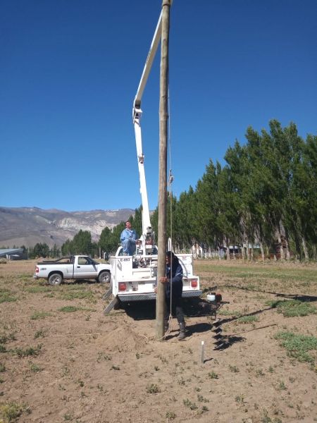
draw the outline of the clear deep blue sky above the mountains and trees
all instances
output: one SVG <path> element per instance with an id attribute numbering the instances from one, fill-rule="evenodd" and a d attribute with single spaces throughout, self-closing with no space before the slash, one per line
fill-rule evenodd
<path id="1" fill-rule="evenodd" d="M 7 0 L 0 15 L 2 207 L 141 204 L 132 102 L 161 0 Z M 195 187 L 249 125 L 317 133 L 316 0 L 174 0 L 173 192 Z M 142 100 L 149 206 L 158 201 L 159 54 Z"/>

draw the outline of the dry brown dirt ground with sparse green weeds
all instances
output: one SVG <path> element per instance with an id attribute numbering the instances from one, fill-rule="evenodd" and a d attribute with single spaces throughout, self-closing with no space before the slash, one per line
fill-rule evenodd
<path id="1" fill-rule="evenodd" d="M 204 295 L 230 302 L 218 314 L 218 350 L 195 302 L 185 304 L 185 341 L 175 319 L 156 341 L 153 303 L 104 316 L 105 286 L 51 287 L 34 270 L 0 263 L 0 422 L 317 421 L 316 349 L 299 361 L 275 338 L 315 339 L 316 314 L 286 317 L 273 305 L 317 306 L 316 265 L 195 262 Z"/>

